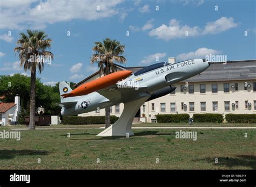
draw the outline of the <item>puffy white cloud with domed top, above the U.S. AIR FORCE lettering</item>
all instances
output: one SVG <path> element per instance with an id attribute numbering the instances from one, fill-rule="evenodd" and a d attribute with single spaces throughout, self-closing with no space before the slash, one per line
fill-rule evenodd
<path id="1" fill-rule="evenodd" d="M 159 39 L 170 40 L 175 38 L 185 38 L 186 32 L 189 37 L 194 37 L 199 35 L 199 27 L 190 27 L 187 25 L 181 26 L 179 21 L 176 19 L 171 19 L 169 21 L 169 26 L 163 24 L 157 28 L 150 31 L 149 35 L 151 37 L 157 37 Z"/>

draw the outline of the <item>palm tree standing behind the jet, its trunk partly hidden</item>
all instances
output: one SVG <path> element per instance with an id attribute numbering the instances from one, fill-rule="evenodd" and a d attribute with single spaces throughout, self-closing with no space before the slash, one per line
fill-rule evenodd
<path id="1" fill-rule="evenodd" d="M 92 50 L 95 52 L 91 56 L 91 63 L 98 63 L 99 76 L 108 75 L 117 71 L 116 62 L 125 63 L 126 59 L 122 54 L 124 53 L 124 45 L 121 45 L 117 40 L 106 38 L 102 42 L 95 42 Z M 110 126 L 110 107 L 105 109 L 105 128 Z"/>

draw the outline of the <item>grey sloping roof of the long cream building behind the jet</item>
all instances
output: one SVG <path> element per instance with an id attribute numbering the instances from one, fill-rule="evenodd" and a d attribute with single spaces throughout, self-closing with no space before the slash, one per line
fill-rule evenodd
<path id="1" fill-rule="evenodd" d="M 123 67 L 116 64 L 119 69 L 131 70 L 133 73 L 144 67 Z M 97 75 L 99 71 L 75 84 L 84 83 L 89 78 Z M 224 62 L 211 62 L 211 66 L 200 75 L 193 76 L 181 82 L 212 82 L 212 81 L 235 81 L 235 80 L 256 80 L 256 60 L 237 60 Z"/>

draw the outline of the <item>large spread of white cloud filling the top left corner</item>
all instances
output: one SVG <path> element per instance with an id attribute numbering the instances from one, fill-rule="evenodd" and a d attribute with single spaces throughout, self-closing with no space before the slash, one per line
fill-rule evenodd
<path id="1" fill-rule="evenodd" d="M 23 4 L 24 2 L 24 4 Z M 0 29 L 44 28 L 46 24 L 72 19 L 96 20 L 122 13 L 123 0 L 1 1 Z M 97 11 L 97 6 L 99 9 Z"/>

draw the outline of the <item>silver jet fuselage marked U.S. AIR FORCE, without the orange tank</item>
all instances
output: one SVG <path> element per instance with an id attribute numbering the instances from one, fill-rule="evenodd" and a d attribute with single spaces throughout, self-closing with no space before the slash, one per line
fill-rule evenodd
<path id="1" fill-rule="evenodd" d="M 132 74 L 125 80 L 117 83 L 118 88 L 133 88 L 133 89 L 144 89 L 147 93 L 151 94 L 154 91 L 173 85 L 177 82 L 186 80 L 187 78 L 193 77 L 210 66 L 210 63 L 203 59 L 193 59 L 173 64 L 166 63 L 165 66 L 161 66 L 156 69 L 140 70 L 140 74 Z M 147 71 L 149 70 L 149 71 Z M 127 89 L 129 91 L 129 89 Z M 142 95 L 143 96 L 143 95 Z M 140 95 L 130 95 L 129 98 L 125 99 L 137 99 L 142 97 Z M 84 96 L 65 98 L 65 102 L 77 100 L 77 104 L 68 108 L 62 108 L 62 116 L 73 116 L 80 113 L 87 113 L 104 109 L 108 106 L 113 106 L 118 103 L 123 103 L 122 99 L 109 100 L 106 97 L 100 95 L 98 92 L 92 92 Z"/>

